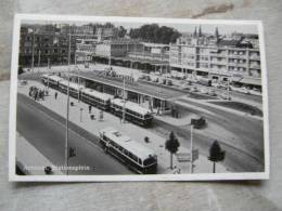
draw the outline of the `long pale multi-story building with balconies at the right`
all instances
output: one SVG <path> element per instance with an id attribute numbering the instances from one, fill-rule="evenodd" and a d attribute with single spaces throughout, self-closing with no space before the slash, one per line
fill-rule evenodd
<path id="1" fill-rule="evenodd" d="M 261 87 L 259 55 L 259 49 L 242 37 L 216 41 L 190 37 L 187 43 L 178 41 L 170 45 L 169 64 L 171 69 L 187 75 L 230 78 L 242 84 Z"/>

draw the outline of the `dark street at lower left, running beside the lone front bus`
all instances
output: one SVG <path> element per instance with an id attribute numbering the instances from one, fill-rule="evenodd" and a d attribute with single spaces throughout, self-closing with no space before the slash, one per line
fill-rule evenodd
<path id="1" fill-rule="evenodd" d="M 54 166 L 64 166 L 65 120 L 30 98 L 17 95 L 16 130 Z M 98 139 L 69 124 L 68 144 L 76 148 L 69 166 L 87 166 L 90 171 L 69 171 L 69 174 L 132 174 L 124 164 L 97 146 Z"/>

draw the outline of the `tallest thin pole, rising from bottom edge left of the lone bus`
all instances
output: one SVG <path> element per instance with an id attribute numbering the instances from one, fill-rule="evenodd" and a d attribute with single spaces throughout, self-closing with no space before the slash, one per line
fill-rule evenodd
<path id="1" fill-rule="evenodd" d="M 69 65 L 70 65 L 70 38 L 68 38 L 68 68 L 67 68 L 67 105 L 66 105 L 66 131 L 65 131 L 65 168 L 66 175 L 68 174 L 68 118 L 69 118 Z"/>

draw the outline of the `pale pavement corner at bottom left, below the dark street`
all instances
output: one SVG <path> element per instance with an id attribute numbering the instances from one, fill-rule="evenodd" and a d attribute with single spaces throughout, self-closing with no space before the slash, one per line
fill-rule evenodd
<path id="1" fill-rule="evenodd" d="M 36 158 L 36 159 L 35 159 Z M 16 134 L 16 160 L 20 168 L 28 175 L 46 175 L 44 168 L 52 168 L 52 175 L 62 175 L 53 163 L 38 151 L 25 137 Z"/>

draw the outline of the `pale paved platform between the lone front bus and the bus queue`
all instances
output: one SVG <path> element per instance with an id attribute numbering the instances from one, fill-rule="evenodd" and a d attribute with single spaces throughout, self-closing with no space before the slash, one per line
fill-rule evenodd
<path id="1" fill-rule="evenodd" d="M 25 95 L 28 95 L 28 88 L 30 85 L 36 85 L 38 88 L 43 89 L 43 84 L 38 83 L 36 81 L 28 81 L 28 85 L 18 87 L 18 92 Z M 49 89 L 49 96 L 44 98 L 44 101 L 39 101 L 41 105 L 48 107 L 52 111 L 56 113 L 60 116 L 65 117 L 66 115 L 66 100 L 67 96 L 61 92 L 57 92 L 57 100 L 54 100 L 54 92 L 55 90 Z M 170 164 L 170 154 L 165 149 L 165 141 L 166 137 L 159 136 L 150 130 L 146 130 L 142 127 L 138 127 L 130 122 L 120 123 L 120 118 L 113 116 L 108 113 L 103 113 L 103 120 L 91 120 L 90 114 L 88 111 L 88 104 L 82 102 L 78 102 L 78 100 L 72 98 L 70 102 L 74 102 L 74 106 L 69 107 L 69 121 L 76 123 L 77 126 L 84 128 L 88 132 L 99 135 L 99 131 L 101 129 L 113 127 L 120 131 L 124 134 L 129 135 L 132 140 L 139 142 L 140 144 L 152 148 L 158 157 L 158 173 L 171 173 L 169 169 Z M 82 108 L 82 109 L 81 109 Z M 80 111 L 81 110 L 81 111 Z M 95 107 L 92 107 L 91 114 L 99 118 L 100 110 Z M 81 114 L 81 116 L 80 116 Z M 81 119 L 80 119 L 81 118 Z M 80 121 L 81 120 L 81 121 Z M 149 143 L 144 142 L 144 137 L 148 136 L 150 139 Z M 179 151 L 189 151 L 187 147 L 180 147 Z M 175 156 L 174 156 L 175 157 Z M 177 166 L 181 169 L 181 173 L 190 172 L 188 168 L 183 167 L 182 163 L 179 163 L 176 158 L 174 158 L 174 166 Z M 202 173 L 210 173 L 211 163 L 207 160 L 206 157 L 200 156 L 200 159 L 195 161 L 196 168 L 194 169 L 195 172 L 200 171 Z M 220 166 L 220 164 L 218 164 Z M 218 167 L 218 172 L 226 171 L 225 168 Z"/>

